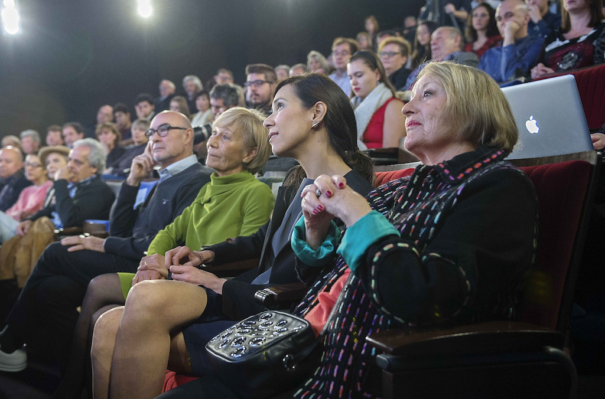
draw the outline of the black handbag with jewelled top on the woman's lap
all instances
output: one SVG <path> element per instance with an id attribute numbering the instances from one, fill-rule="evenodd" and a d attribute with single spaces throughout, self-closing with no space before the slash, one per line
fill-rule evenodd
<path id="1" fill-rule="evenodd" d="M 270 311 L 248 317 L 206 344 L 213 374 L 242 398 L 296 387 L 315 369 L 320 338 L 303 318 Z"/>

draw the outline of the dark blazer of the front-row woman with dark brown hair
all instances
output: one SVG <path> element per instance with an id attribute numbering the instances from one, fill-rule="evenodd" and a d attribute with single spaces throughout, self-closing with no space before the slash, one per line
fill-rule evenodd
<path id="1" fill-rule="evenodd" d="M 347 184 L 363 196 L 373 190 L 372 185 L 355 170 L 347 173 L 345 177 Z M 254 301 L 256 291 L 276 284 L 297 281 L 311 283 L 319 272 L 301 262 L 298 262 L 298 268 L 295 267 L 296 256 L 290 245 L 284 246 L 279 253 L 275 254 L 275 259 L 271 259 L 273 235 L 281 225 L 286 210 L 292 202 L 292 198 L 288 198 L 289 195 L 286 191 L 286 187 L 280 187 L 273 216 L 256 233 L 247 237 L 237 237 L 232 241 L 225 241 L 208 248 L 215 254 L 215 261 L 210 265 L 260 258 L 257 268 L 227 280 L 223 285 L 223 314 L 233 320 L 241 320 L 264 310 Z M 269 284 L 251 284 L 259 274 L 269 268 L 271 268 Z"/>

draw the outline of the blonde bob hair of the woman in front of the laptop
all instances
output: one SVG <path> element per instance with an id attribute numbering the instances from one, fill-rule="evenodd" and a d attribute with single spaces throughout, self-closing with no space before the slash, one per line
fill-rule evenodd
<path id="1" fill-rule="evenodd" d="M 431 62 L 418 79 L 437 79 L 447 94 L 445 113 L 461 141 L 512 151 L 519 138 L 510 105 L 485 72 L 453 62 Z"/>

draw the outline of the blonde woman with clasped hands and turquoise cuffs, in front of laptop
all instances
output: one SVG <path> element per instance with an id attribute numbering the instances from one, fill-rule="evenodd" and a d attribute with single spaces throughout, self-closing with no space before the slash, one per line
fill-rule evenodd
<path id="1" fill-rule="evenodd" d="M 320 176 L 302 193 L 292 240 L 302 262 L 325 260 L 314 249 L 337 232 L 333 217 L 348 229 L 332 271 L 294 310 L 319 332 L 343 301 L 338 323 L 325 325 L 317 369 L 289 398 L 381 396 L 370 333 L 514 316 L 538 204 L 531 181 L 503 161 L 518 137 L 504 95 L 475 68 L 431 63 L 403 113 L 406 148 L 424 163 L 412 176 L 379 187 L 369 204 L 340 176 Z M 205 376 L 160 398 L 237 397 L 223 381 Z"/>

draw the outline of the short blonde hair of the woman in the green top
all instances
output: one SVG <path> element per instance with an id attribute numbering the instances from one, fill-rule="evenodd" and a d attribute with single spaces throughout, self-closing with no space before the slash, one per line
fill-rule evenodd
<path id="1" fill-rule="evenodd" d="M 235 107 L 223 112 L 212 124 L 212 129 L 229 128 L 233 133 L 241 135 L 246 151 L 256 148 L 254 159 L 244 162 L 244 169 L 252 174 L 261 170 L 271 156 L 269 135 L 263 126 L 264 121 L 265 116 L 255 109 Z"/>

